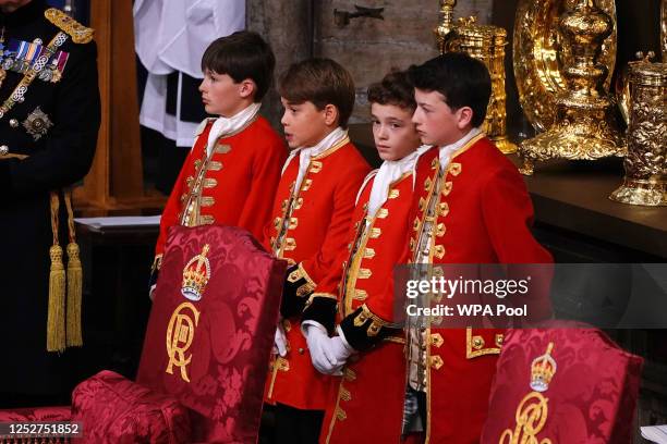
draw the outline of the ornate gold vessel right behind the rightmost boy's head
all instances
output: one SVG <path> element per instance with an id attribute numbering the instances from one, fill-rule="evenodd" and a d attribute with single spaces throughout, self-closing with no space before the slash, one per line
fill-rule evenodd
<path id="1" fill-rule="evenodd" d="M 492 77 L 492 97 L 484 120 L 484 132 L 504 153 L 517 146 L 507 138 L 505 92 L 505 46 L 507 30 L 498 26 L 480 25 L 476 17 L 459 18 L 453 23 L 456 0 L 442 0 L 440 24 L 434 29 L 440 53 L 460 51 L 481 60 Z"/>

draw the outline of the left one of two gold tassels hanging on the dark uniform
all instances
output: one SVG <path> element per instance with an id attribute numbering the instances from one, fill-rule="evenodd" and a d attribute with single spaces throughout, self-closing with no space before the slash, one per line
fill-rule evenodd
<path id="1" fill-rule="evenodd" d="M 58 194 L 51 192 L 51 232 L 53 245 L 49 250 L 51 271 L 49 273 L 49 310 L 47 316 L 47 351 L 62 351 L 65 348 L 64 298 L 65 271 L 62 264 L 62 247 L 58 244 Z"/>

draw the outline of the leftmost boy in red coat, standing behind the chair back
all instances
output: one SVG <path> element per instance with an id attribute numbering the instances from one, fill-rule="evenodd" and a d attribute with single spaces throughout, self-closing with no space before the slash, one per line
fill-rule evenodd
<path id="1" fill-rule="evenodd" d="M 287 157 L 280 136 L 258 114 L 275 64 L 268 44 L 246 30 L 215 40 L 204 52 L 202 100 L 219 118 L 197 128 L 162 211 L 151 291 L 170 226 L 235 225 L 262 238 Z"/>

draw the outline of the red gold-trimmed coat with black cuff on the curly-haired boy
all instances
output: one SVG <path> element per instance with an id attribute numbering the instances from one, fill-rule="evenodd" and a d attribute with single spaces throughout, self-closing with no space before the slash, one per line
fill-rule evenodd
<path id="1" fill-rule="evenodd" d="M 340 268 L 335 267 L 335 272 L 314 294 L 339 297 L 341 329 L 354 348 L 366 348 L 364 343 L 368 347 L 375 345 L 353 355 L 343 377 L 337 379 L 338 386 L 329 395 L 320 443 L 353 443 L 361 436 L 367 442 L 390 443 L 400 437 L 405 341 L 400 325 L 392 325 L 395 309 L 403 306 L 395 300 L 392 273 L 404 252 L 411 227 L 412 177 L 412 173 L 407 173 L 390 185 L 387 200 L 371 218 L 367 230 L 363 230 L 374 181 L 366 183 L 352 217 L 348 250 L 339 260 L 343 264 L 342 280 Z M 385 332 L 387 328 L 390 331 Z"/>

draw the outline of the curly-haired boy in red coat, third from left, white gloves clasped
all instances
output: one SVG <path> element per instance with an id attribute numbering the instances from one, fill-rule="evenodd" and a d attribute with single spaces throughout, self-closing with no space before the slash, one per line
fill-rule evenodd
<path id="1" fill-rule="evenodd" d="M 338 299 L 337 335 L 327 336 L 322 353 L 311 353 L 320 372 L 338 373 L 342 367 L 342 379 L 329 395 L 320 443 L 396 443 L 401 436 L 405 341 L 395 312 L 402 301 L 395 300 L 392 273 L 412 226 L 414 168 L 428 147 L 420 147 L 411 121 L 416 104 L 407 73 L 387 74 L 372 85 L 368 102 L 384 163 L 360 189 L 348 249 L 317 286 L 302 322 L 308 335 L 332 332 L 328 313 Z"/>

